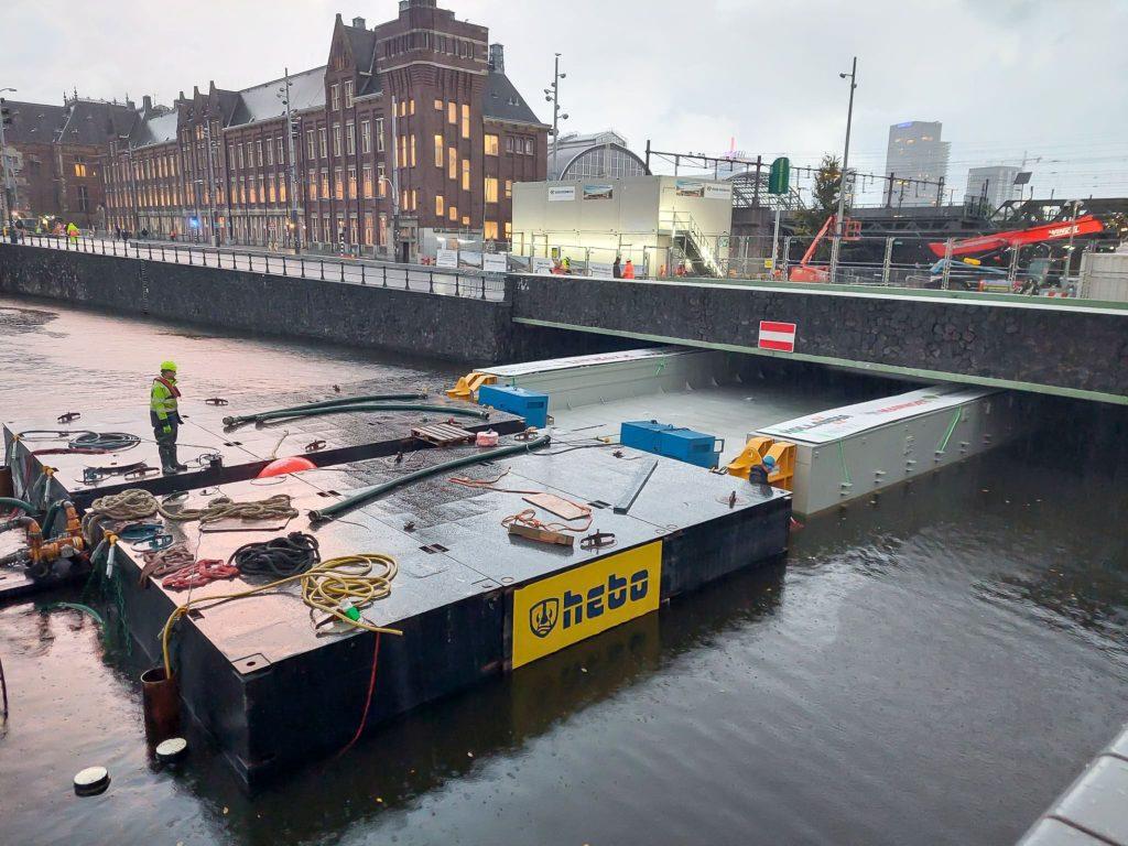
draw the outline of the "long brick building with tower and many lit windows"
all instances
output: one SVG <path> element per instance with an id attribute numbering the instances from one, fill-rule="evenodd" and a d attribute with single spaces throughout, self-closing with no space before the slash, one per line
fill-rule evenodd
<path id="1" fill-rule="evenodd" d="M 289 246 L 293 215 L 302 244 L 400 257 L 430 233 L 504 241 L 512 183 L 545 178 L 547 136 L 485 27 L 402 0 L 373 28 L 338 15 L 324 67 L 146 98 L 108 144 L 108 224 Z"/>

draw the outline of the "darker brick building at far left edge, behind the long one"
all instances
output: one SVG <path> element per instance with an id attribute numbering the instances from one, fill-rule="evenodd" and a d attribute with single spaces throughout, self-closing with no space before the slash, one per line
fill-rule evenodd
<path id="1" fill-rule="evenodd" d="M 12 210 L 105 227 L 102 162 L 107 144 L 136 121 L 132 103 L 64 97 L 62 106 L 7 100 L 5 157 L 14 176 Z"/>

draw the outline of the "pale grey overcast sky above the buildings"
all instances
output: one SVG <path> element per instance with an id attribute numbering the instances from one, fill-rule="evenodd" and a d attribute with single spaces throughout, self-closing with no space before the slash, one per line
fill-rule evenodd
<path id="1" fill-rule="evenodd" d="M 395 0 L 12 2 L 0 87 L 135 100 L 209 80 L 243 88 L 323 64 L 333 16 L 371 27 Z M 840 153 L 858 56 L 851 164 L 880 173 L 889 125 L 942 121 L 949 178 L 1019 164 L 1037 193 L 1128 195 L 1128 0 L 441 0 L 505 44 L 506 71 L 548 120 L 553 52 L 565 130 L 614 127 L 656 149 L 795 165 Z M 1038 157 L 1041 160 L 1038 161 Z"/>

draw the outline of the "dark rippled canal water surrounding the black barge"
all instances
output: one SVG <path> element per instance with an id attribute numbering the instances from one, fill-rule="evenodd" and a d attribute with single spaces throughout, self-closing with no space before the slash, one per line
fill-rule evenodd
<path id="1" fill-rule="evenodd" d="M 0 420 L 143 404 L 166 358 L 196 396 L 457 374 L 0 299 Z M 0 843 L 1013 843 L 1128 719 L 1119 418 L 1056 413 L 254 796 L 201 738 L 150 766 L 135 651 L 58 596 L 0 608 Z"/>

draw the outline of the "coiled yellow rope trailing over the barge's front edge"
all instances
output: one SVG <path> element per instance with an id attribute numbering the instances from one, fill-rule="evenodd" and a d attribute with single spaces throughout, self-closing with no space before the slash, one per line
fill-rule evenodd
<path id="1" fill-rule="evenodd" d="M 372 570 L 377 565 L 380 565 L 384 570 L 373 574 Z M 190 599 L 169 615 L 165 627 L 160 632 L 160 649 L 165 660 L 165 678 L 173 678 L 168 641 L 173 633 L 173 626 L 176 625 L 176 622 L 180 617 L 205 602 L 212 603 L 205 607 L 214 608 L 231 599 L 243 599 L 244 597 L 253 597 L 257 593 L 277 590 L 290 582 L 301 582 L 301 600 L 315 610 L 328 614 L 342 623 L 347 623 L 350 626 L 362 628 L 365 632 L 403 635 L 403 632 L 397 628 L 373 626 L 363 617 L 355 620 L 350 619 L 340 608 L 341 602 L 345 599 L 350 600 L 353 607 L 358 609 L 365 608 L 380 599 L 386 599 L 391 594 L 391 580 L 396 578 L 396 573 L 398 572 L 399 565 L 390 555 L 384 555 L 382 553 L 358 553 L 356 555 L 345 555 L 340 558 L 323 561 L 305 573 L 279 579 L 276 582 L 271 582 L 270 584 L 249 588 L 235 593 L 221 593 L 201 597 L 200 599 Z"/>

